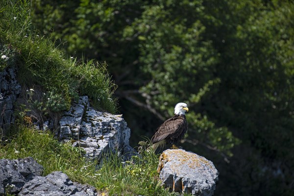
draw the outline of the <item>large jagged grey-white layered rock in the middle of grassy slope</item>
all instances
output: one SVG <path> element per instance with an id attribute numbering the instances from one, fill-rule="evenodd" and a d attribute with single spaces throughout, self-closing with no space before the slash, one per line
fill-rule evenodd
<path id="1" fill-rule="evenodd" d="M 121 115 L 99 112 L 89 104 L 87 96 L 79 98 L 60 120 L 59 138 L 85 150 L 85 156 L 99 160 L 104 152 L 135 154 L 129 147 L 130 129 Z"/>

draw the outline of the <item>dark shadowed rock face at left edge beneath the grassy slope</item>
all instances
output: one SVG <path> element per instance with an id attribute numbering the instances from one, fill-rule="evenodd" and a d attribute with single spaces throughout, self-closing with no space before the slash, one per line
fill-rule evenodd
<path id="1" fill-rule="evenodd" d="M 21 86 L 16 80 L 16 69 L 6 68 L 0 72 L 0 136 L 5 136 L 11 123 L 14 123 L 13 103 L 20 93 Z"/>

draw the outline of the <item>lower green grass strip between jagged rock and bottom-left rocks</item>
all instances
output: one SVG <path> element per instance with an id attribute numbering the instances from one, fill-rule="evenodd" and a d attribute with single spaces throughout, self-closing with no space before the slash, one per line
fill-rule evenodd
<path id="1" fill-rule="evenodd" d="M 44 167 L 43 175 L 53 171 L 66 173 L 71 180 L 89 184 L 101 193 L 113 196 L 172 196 L 161 186 L 156 172 L 158 156 L 145 148 L 131 161 L 110 154 L 97 169 L 96 161 L 88 161 L 71 144 L 61 144 L 50 133 L 19 126 L 17 134 L 1 142 L 0 159 L 33 157 Z"/>

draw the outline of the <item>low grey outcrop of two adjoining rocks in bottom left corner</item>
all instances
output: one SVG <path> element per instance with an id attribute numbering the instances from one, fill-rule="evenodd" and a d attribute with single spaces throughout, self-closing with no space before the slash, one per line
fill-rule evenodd
<path id="1" fill-rule="evenodd" d="M 43 166 L 32 157 L 9 160 L 0 159 L 0 195 L 18 196 L 97 196 L 89 185 L 72 182 L 63 172 L 40 176 Z"/>

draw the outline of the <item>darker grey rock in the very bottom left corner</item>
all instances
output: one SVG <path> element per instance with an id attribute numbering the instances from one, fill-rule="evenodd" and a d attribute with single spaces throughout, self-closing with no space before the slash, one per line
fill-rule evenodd
<path id="1" fill-rule="evenodd" d="M 19 193 L 26 182 L 40 175 L 43 167 L 32 157 L 0 160 L 0 195 Z"/>

